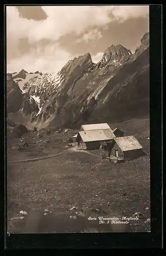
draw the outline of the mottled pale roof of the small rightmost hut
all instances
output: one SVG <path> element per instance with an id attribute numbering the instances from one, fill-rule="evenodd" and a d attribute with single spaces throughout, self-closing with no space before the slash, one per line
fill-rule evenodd
<path id="1" fill-rule="evenodd" d="M 138 150 L 140 148 L 143 148 L 142 145 L 137 141 L 137 139 L 134 136 L 118 137 L 114 138 L 114 140 L 121 148 L 122 152 L 129 150 Z"/>

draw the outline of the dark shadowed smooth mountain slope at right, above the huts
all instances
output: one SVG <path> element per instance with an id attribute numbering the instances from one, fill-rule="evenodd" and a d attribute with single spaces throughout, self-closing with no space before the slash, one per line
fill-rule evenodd
<path id="1" fill-rule="evenodd" d="M 149 47 L 127 62 L 100 93 L 91 120 L 119 121 L 149 115 Z"/>

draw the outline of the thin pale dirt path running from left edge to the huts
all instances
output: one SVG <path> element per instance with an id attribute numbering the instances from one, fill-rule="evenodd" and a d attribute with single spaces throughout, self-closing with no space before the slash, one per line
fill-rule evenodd
<path id="1" fill-rule="evenodd" d="M 34 162 L 34 161 L 38 161 L 38 160 L 42 160 L 42 159 L 47 159 L 47 158 L 51 158 L 51 157 L 56 157 L 56 156 L 62 155 L 62 154 L 64 154 L 64 153 L 72 153 L 73 151 L 75 151 L 75 152 L 77 152 L 77 153 L 78 153 L 78 152 L 82 152 L 82 151 L 76 150 L 75 148 L 68 148 L 67 150 L 64 150 L 63 152 L 59 152 L 59 153 L 54 154 L 54 155 L 51 155 L 51 156 L 38 157 L 38 158 L 31 158 L 31 159 L 24 159 L 24 160 L 16 160 L 16 161 L 11 161 L 11 162 L 9 162 L 9 163 Z M 92 154 L 92 153 L 90 153 L 90 152 L 88 152 L 88 151 L 86 151 L 86 150 L 83 151 L 83 152 L 85 152 L 85 153 L 87 153 L 87 154 L 90 154 L 90 155 L 92 155 L 92 156 L 98 157 L 97 155 Z"/>

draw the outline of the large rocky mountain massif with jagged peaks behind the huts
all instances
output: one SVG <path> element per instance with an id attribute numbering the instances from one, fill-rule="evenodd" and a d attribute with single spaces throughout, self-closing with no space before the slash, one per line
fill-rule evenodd
<path id="1" fill-rule="evenodd" d="M 69 60 L 57 74 L 32 78 L 23 90 L 38 100 L 35 125 L 76 127 L 149 114 L 149 33 L 135 53 L 110 46 L 98 63 L 87 53 Z"/>

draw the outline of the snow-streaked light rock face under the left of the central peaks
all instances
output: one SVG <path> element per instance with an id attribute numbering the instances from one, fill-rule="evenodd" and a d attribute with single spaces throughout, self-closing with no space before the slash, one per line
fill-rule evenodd
<path id="1" fill-rule="evenodd" d="M 30 95 L 39 97 L 39 107 L 42 113 L 36 116 L 37 120 L 46 121 L 58 114 L 67 99 L 67 93 L 85 71 L 94 65 L 88 53 L 66 63 L 58 73 L 45 74 L 41 79 L 32 78 L 25 84 L 23 90 Z M 34 116 L 33 116 L 34 120 Z"/>

